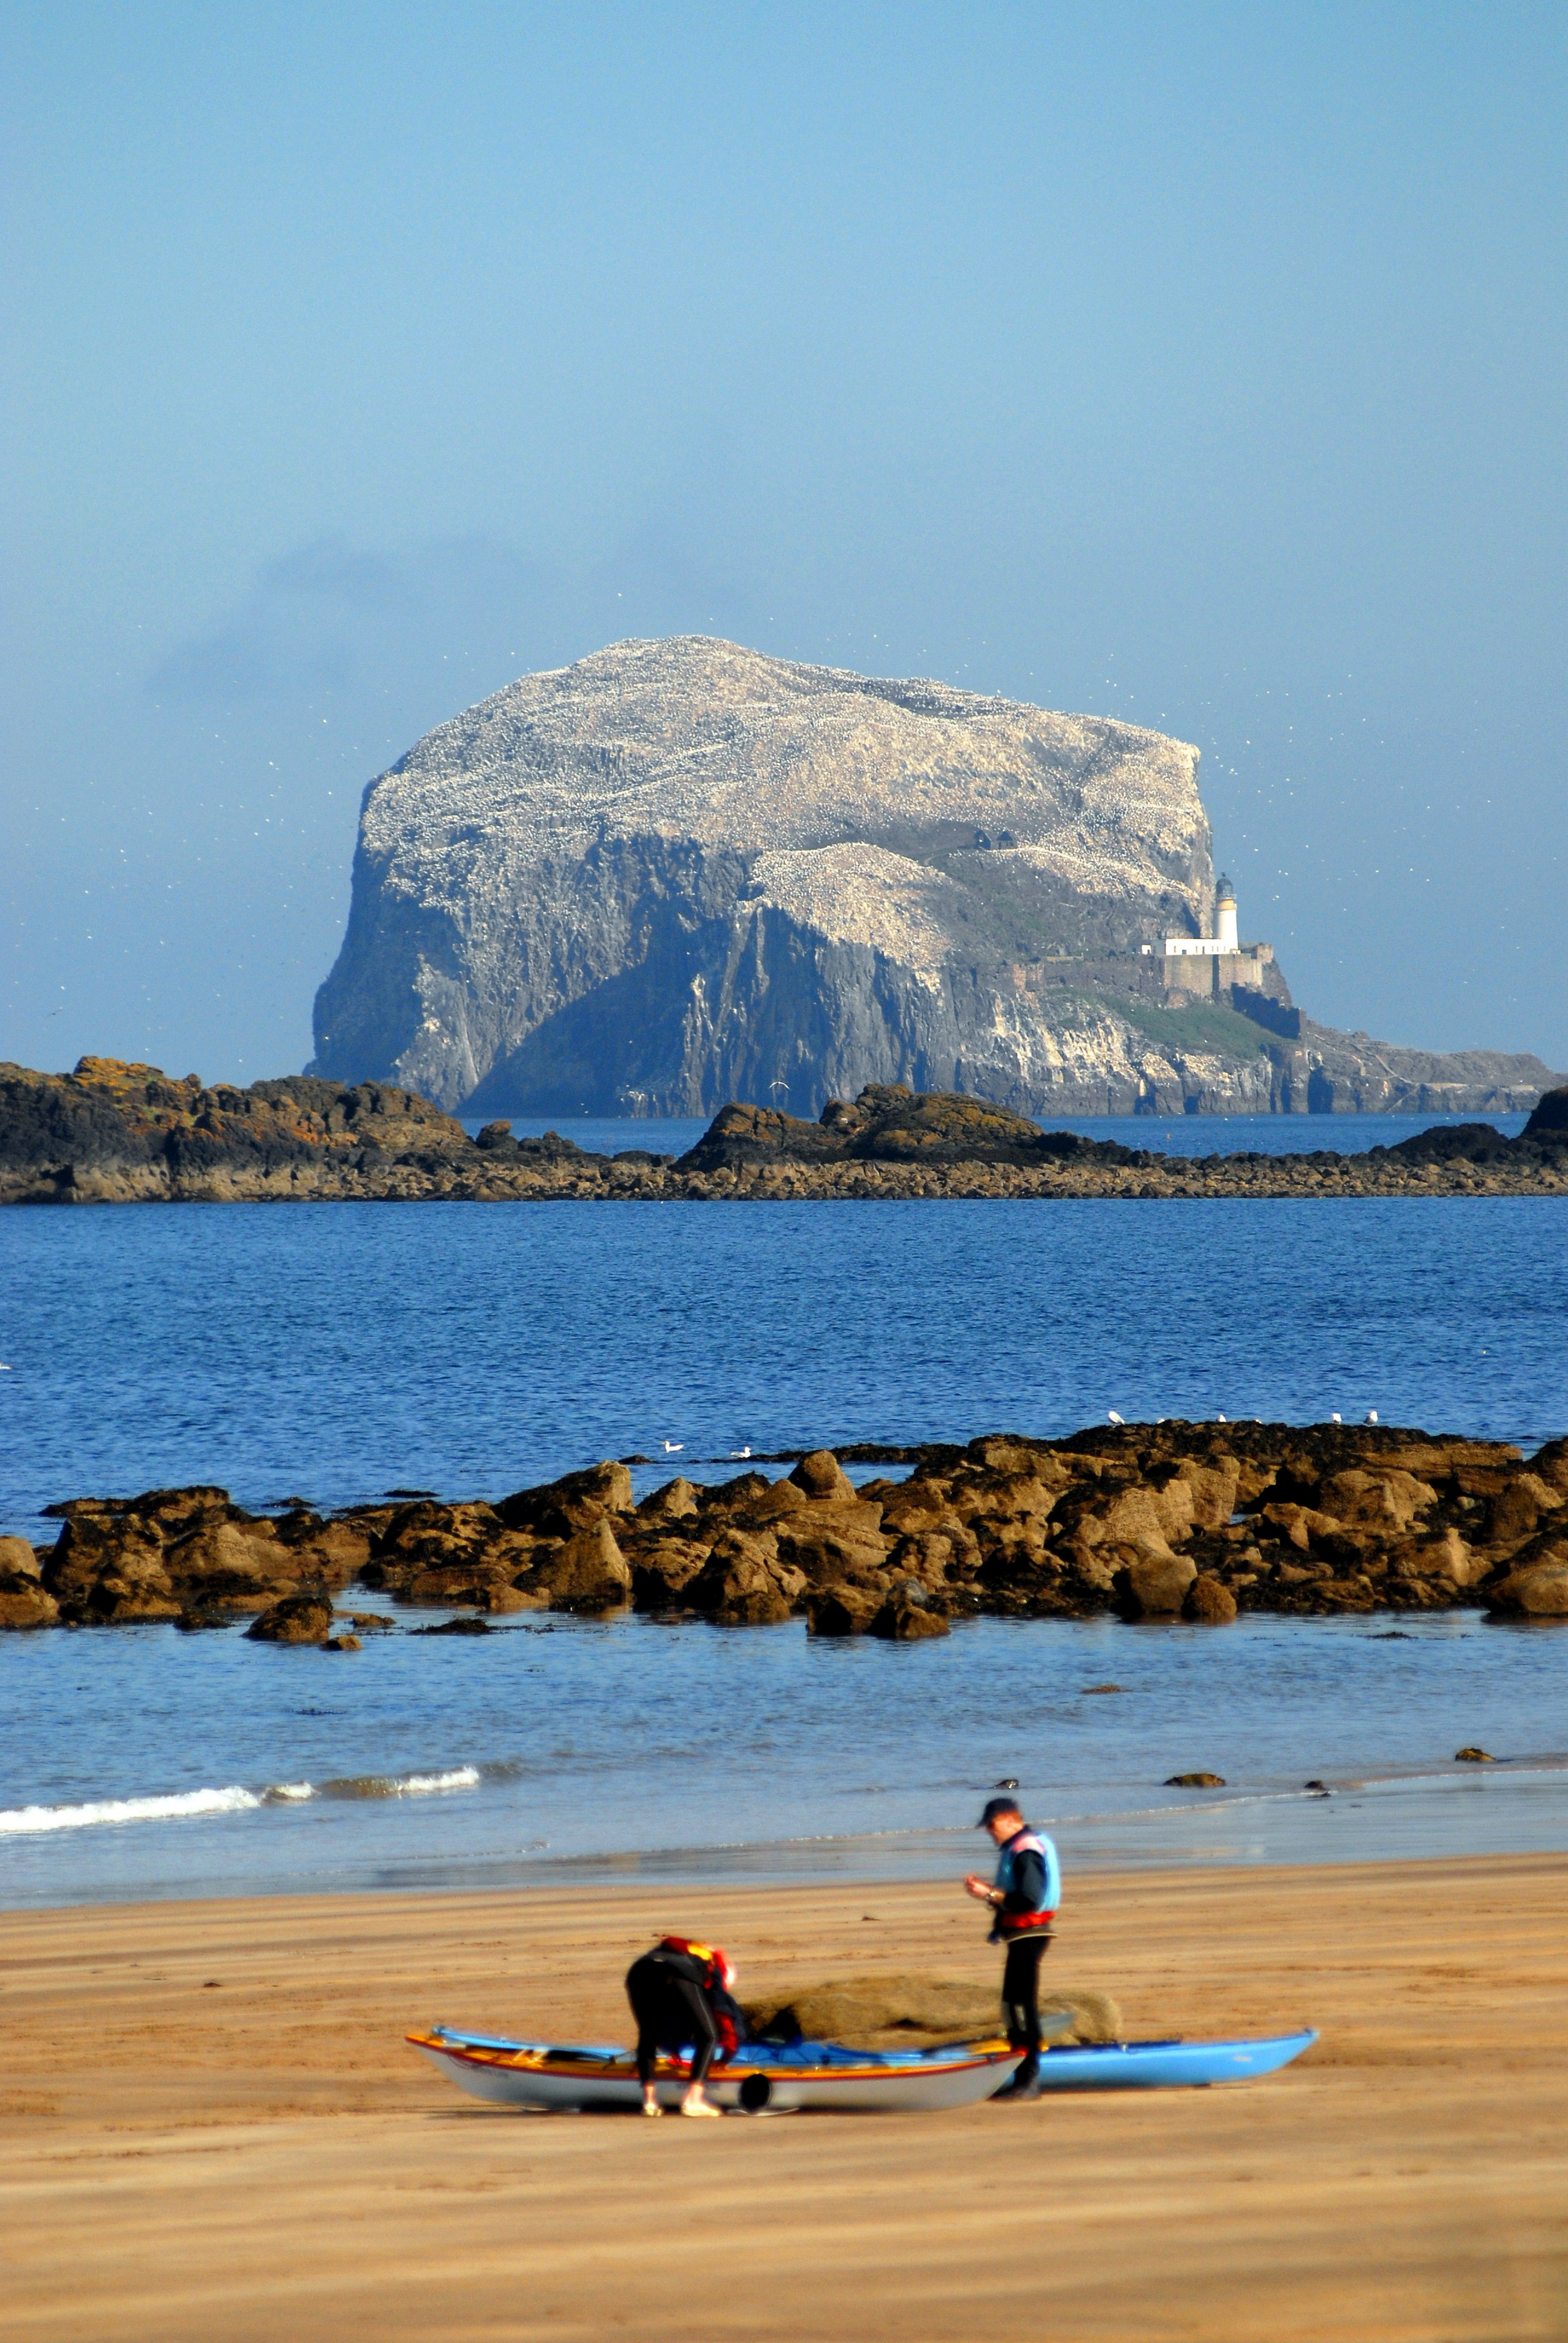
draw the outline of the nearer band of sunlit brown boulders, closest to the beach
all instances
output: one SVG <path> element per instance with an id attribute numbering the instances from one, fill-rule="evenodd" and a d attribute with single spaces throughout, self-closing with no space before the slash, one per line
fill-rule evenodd
<path id="1" fill-rule="evenodd" d="M 853 1460 L 855 1453 L 848 1450 Z M 907 1478 L 855 1488 L 816 1450 L 778 1481 L 668 1481 L 626 1462 L 495 1504 L 389 1497 L 246 1514 L 220 1488 L 75 1497 L 54 1546 L 0 1539 L 0 1626 L 185 1628 L 347 1647 L 384 1612 L 614 1612 L 898 1642 L 954 1619 L 1188 1619 L 1486 1610 L 1568 1617 L 1568 1441 L 1538 1455 L 1376 1425 L 1120 1425 L 1062 1441 L 874 1450 Z M 776 1460 L 778 1462 L 778 1460 Z"/>

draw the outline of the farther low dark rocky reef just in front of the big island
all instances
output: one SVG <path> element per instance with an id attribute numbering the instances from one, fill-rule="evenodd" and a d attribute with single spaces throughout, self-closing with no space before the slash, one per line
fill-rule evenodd
<path id="1" fill-rule="evenodd" d="M 1334 1129 L 1301 1118 L 1303 1136 Z M 832 1197 L 1568 1195 L 1568 1087 L 1519 1139 L 1437 1125 L 1338 1155 L 1158 1155 L 1043 1132 L 1005 1106 L 902 1085 L 830 1099 L 816 1122 L 727 1106 L 682 1157 L 593 1155 L 558 1132 L 476 1139 L 408 1089 L 312 1075 L 202 1087 L 84 1057 L 0 1064 L 0 1204 L 134 1202 L 722 1202 Z"/>

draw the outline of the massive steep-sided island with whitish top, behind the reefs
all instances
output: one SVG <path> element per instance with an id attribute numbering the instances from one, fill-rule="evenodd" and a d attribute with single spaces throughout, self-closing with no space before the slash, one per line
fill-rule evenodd
<path id="1" fill-rule="evenodd" d="M 816 1115 L 867 1082 L 1029 1115 L 1512 1113 L 1554 1080 L 1313 1024 L 1268 947 L 1165 961 L 1212 914 L 1184 740 L 619 642 L 370 783 L 309 1071 L 471 1115 Z"/>

